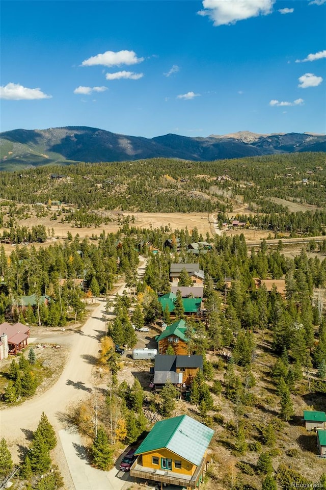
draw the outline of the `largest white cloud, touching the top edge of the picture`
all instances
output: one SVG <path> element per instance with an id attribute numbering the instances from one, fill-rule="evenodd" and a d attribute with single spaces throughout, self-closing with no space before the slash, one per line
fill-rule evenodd
<path id="1" fill-rule="evenodd" d="M 213 25 L 234 24 L 238 20 L 268 15 L 276 0 L 203 0 L 205 10 L 199 15 L 208 16 Z"/>

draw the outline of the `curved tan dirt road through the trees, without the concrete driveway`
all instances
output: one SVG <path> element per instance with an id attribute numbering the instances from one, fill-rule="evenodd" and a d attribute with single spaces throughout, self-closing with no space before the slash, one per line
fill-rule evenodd
<path id="1" fill-rule="evenodd" d="M 122 294 L 123 289 L 124 286 L 118 290 L 118 293 Z M 67 406 L 92 393 L 92 368 L 98 357 L 99 338 L 105 331 L 102 315 L 106 302 L 105 299 L 100 299 L 99 302 L 100 304 L 93 310 L 80 332 L 72 334 L 69 338 L 71 342 L 69 359 L 56 384 L 47 392 L 40 396 L 36 395 L 22 405 L 0 411 L 0 438 L 5 437 L 15 460 L 17 459 L 15 453 L 18 452 L 19 446 L 29 445 L 29 431 L 36 429 L 42 411 L 59 434 L 59 431 L 62 432 L 64 428 L 62 414 L 67 410 Z M 75 486 L 68 470 L 64 449 L 58 436 L 58 445 L 53 456 L 55 462 L 60 465 L 66 488 L 71 489 Z M 85 464 L 86 461 L 84 466 Z M 98 487 L 93 488 L 96 490 Z"/>

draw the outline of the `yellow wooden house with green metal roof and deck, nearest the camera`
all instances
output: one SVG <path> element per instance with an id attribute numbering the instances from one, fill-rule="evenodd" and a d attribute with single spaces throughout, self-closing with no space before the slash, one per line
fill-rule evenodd
<path id="1" fill-rule="evenodd" d="M 187 490 L 200 488 L 214 431 L 187 415 L 156 422 L 139 446 L 130 476 Z"/>

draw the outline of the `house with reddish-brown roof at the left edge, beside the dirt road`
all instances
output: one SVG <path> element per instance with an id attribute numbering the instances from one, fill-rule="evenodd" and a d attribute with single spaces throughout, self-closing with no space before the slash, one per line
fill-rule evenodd
<path id="1" fill-rule="evenodd" d="M 7 322 L 0 324 L 0 360 L 8 354 L 17 354 L 27 345 L 30 337 L 30 327 L 22 323 L 10 325 Z"/>

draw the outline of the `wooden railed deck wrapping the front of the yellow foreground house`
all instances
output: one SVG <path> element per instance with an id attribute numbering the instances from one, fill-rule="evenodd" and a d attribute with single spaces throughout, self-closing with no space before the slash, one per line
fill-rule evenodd
<path id="1" fill-rule="evenodd" d="M 143 480 L 151 480 L 159 482 L 161 490 L 163 484 L 177 485 L 184 487 L 187 490 L 191 488 L 200 488 L 200 483 L 203 479 L 203 474 L 207 471 L 207 464 L 209 457 L 204 457 L 201 460 L 200 465 L 197 467 L 195 473 L 191 475 L 182 475 L 181 473 L 175 473 L 169 470 L 156 470 L 154 468 L 147 468 L 142 466 L 142 456 L 140 455 L 130 468 L 130 476 L 136 478 L 142 478 Z"/>

